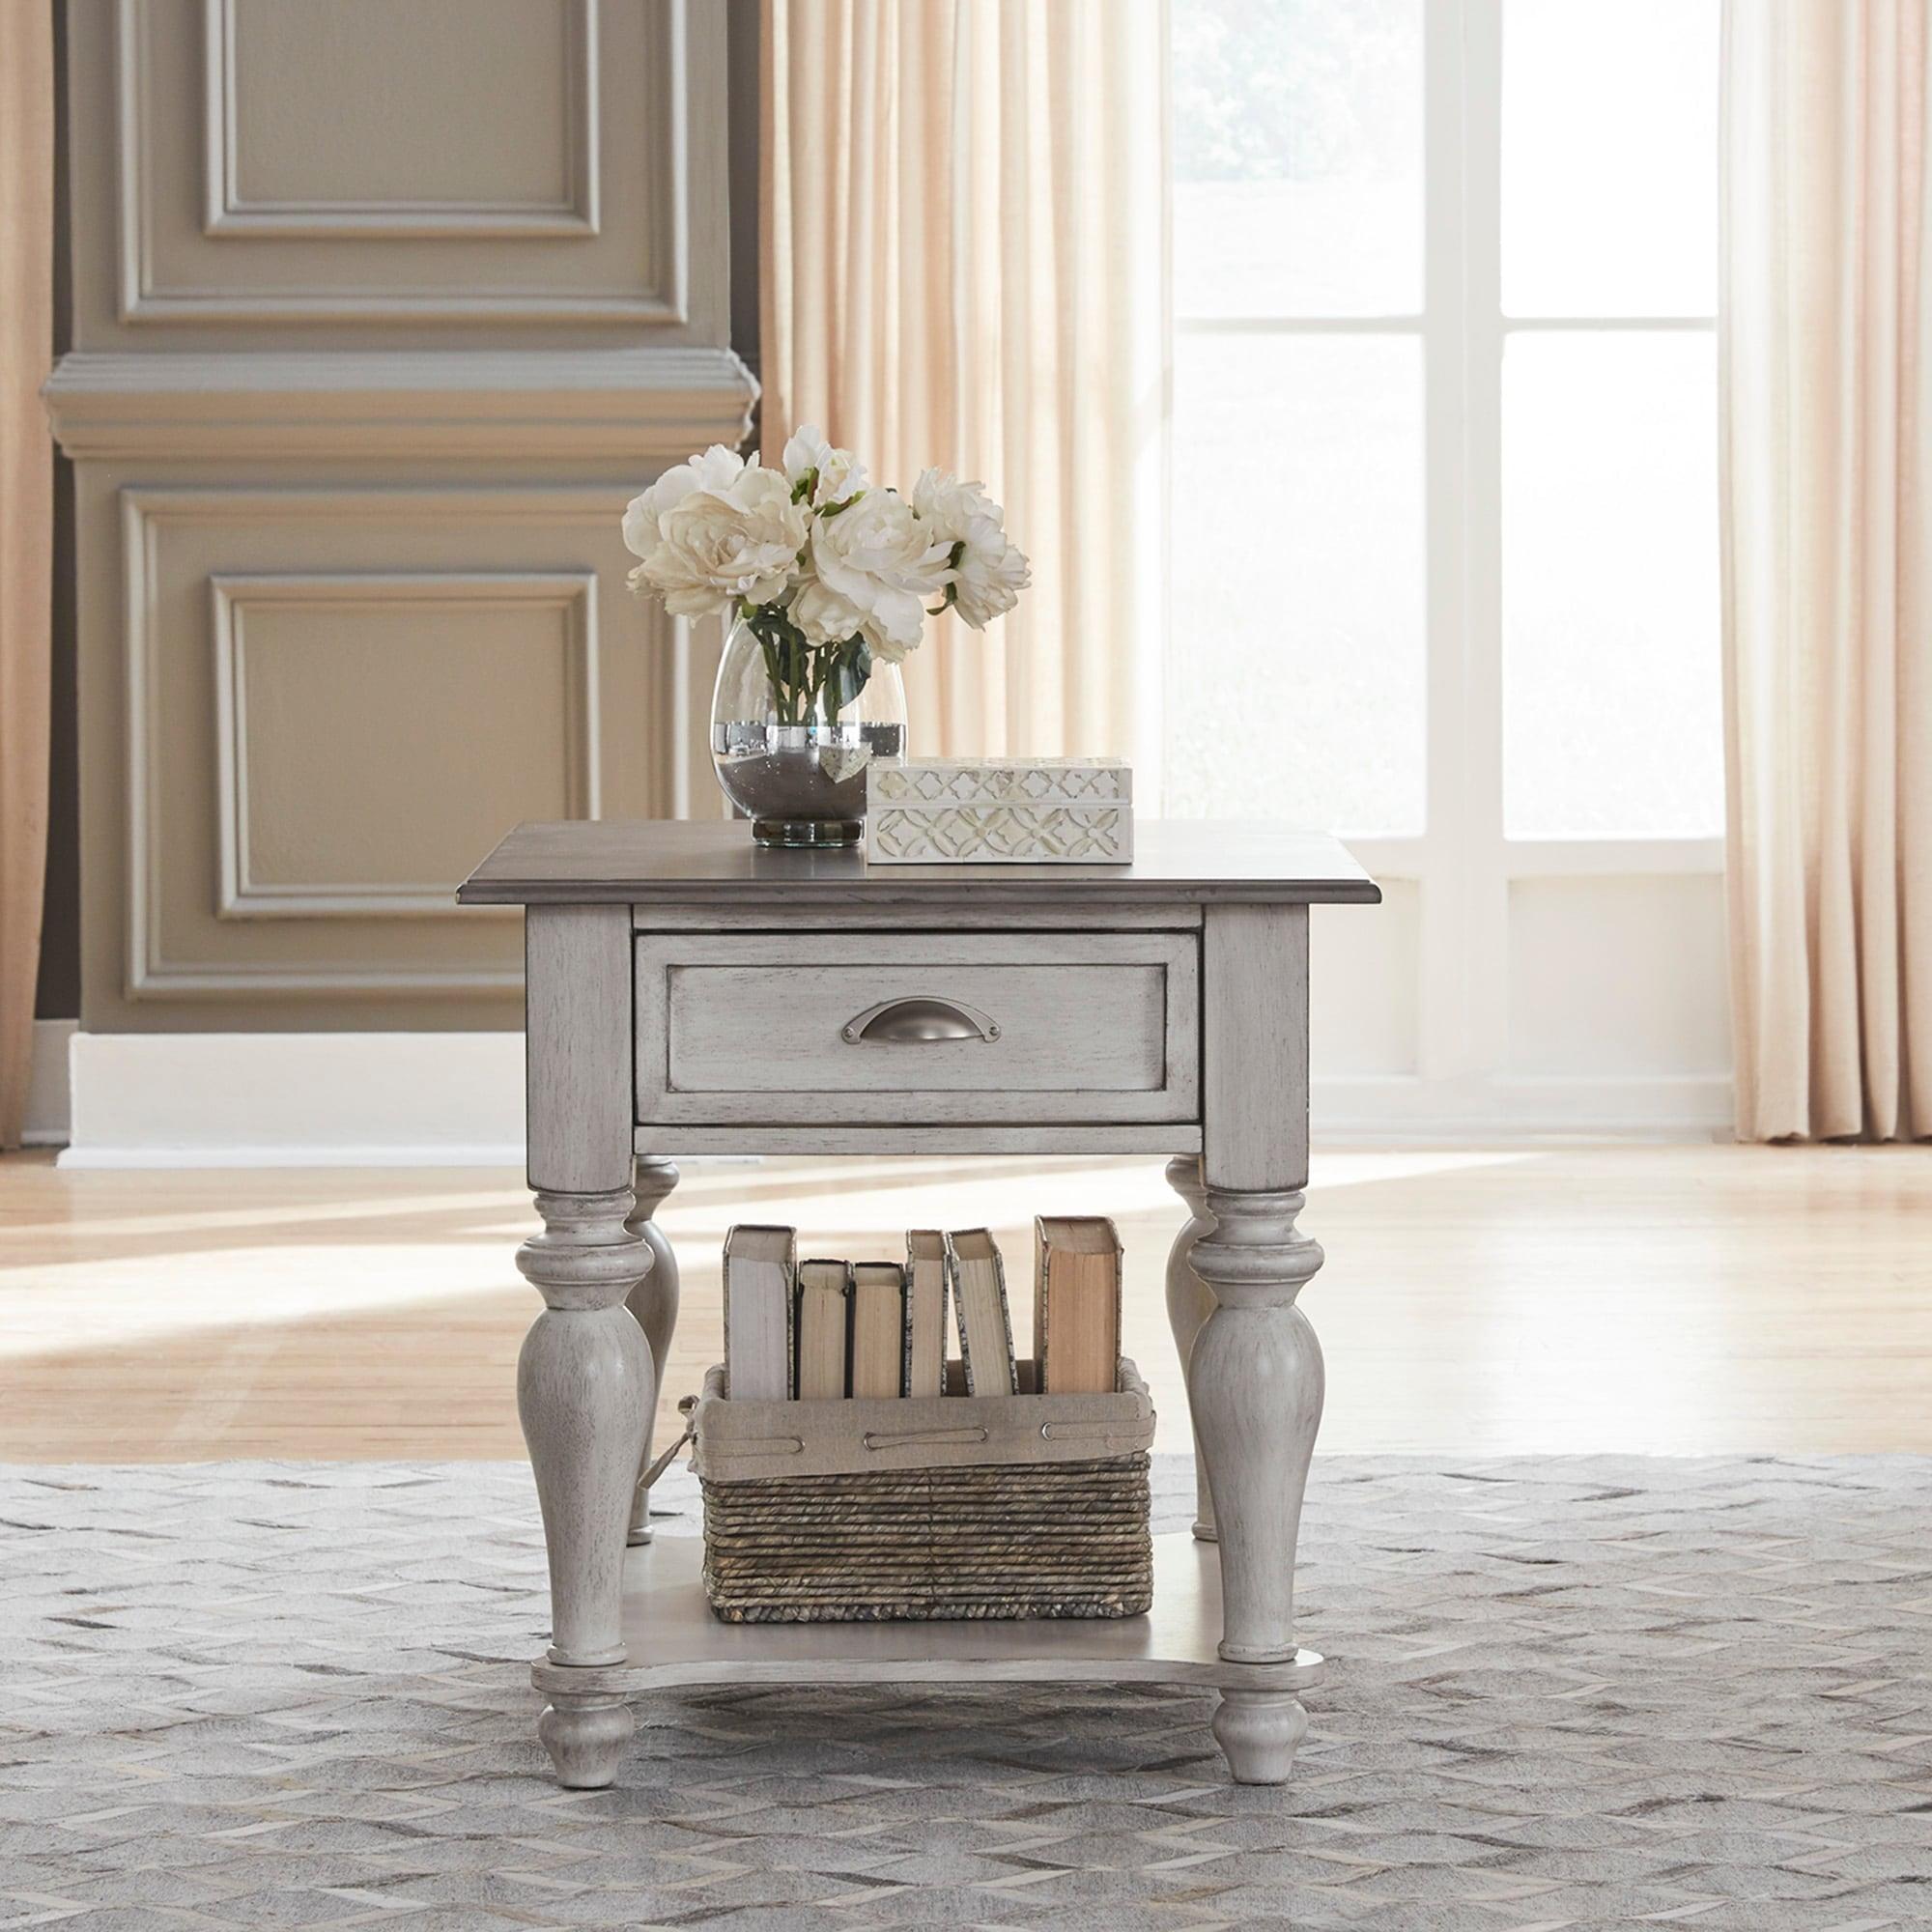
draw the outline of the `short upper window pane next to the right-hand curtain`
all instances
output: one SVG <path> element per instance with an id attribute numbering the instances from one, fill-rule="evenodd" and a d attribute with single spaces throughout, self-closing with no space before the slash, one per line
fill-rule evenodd
<path id="1" fill-rule="evenodd" d="M 1505 0 L 1503 311 L 1718 307 L 1718 0 Z"/>

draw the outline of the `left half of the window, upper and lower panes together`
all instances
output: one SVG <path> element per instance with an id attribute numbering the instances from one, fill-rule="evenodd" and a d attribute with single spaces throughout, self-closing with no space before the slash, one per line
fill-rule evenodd
<path id="1" fill-rule="evenodd" d="M 1420 833 L 1422 0 L 1173 23 L 1163 806 Z"/>

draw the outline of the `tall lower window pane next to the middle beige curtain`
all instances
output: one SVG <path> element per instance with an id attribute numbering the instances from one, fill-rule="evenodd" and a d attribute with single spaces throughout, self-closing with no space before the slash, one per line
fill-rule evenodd
<path id="1" fill-rule="evenodd" d="M 1422 344 L 1175 344 L 1165 800 L 1422 831 Z"/>

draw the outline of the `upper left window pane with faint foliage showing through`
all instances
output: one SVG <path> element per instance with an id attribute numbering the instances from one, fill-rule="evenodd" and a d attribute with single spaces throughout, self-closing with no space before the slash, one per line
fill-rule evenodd
<path id="1" fill-rule="evenodd" d="M 1422 307 L 1422 0 L 1175 0 L 1175 313 Z"/>

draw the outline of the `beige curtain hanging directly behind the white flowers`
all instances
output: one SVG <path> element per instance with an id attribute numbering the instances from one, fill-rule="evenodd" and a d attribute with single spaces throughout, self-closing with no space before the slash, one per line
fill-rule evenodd
<path id="1" fill-rule="evenodd" d="M 1163 0 L 765 0 L 763 446 L 978 477 L 1034 564 L 906 665 L 914 750 L 1132 750 L 1161 636 Z"/>

